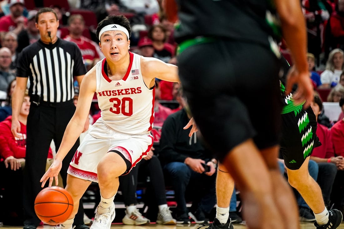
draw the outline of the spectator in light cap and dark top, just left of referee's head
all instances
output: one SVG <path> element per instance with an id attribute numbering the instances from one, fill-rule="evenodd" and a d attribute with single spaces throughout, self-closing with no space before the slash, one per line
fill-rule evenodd
<path id="1" fill-rule="evenodd" d="M 18 34 L 18 53 L 20 53 L 26 46 L 29 46 L 40 39 L 40 33 L 35 24 L 36 13 L 37 10 L 29 11 L 28 25 L 26 26 L 26 29 L 22 30 Z"/>

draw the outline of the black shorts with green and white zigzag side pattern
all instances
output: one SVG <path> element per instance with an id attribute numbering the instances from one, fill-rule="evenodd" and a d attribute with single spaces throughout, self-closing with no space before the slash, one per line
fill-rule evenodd
<path id="1" fill-rule="evenodd" d="M 280 153 L 290 170 L 298 170 L 313 149 L 321 145 L 316 136 L 316 118 L 311 107 L 282 114 Z"/>

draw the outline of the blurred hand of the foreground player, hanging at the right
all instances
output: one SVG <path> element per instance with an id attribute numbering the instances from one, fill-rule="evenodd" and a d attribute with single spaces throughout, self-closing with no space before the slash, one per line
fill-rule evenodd
<path id="1" fill-rule="evenodd" d="M 300 73 L 295 66 L 291 67 L 287 76 L 287 95 L 291 92 L 294 84 L 297 84 L 298 88 L 293 93 L 293 100 L 297 105 L 305 101 L 303 108 L 308 108 L 313 101 L 314 93 L 309 72 Z"/>

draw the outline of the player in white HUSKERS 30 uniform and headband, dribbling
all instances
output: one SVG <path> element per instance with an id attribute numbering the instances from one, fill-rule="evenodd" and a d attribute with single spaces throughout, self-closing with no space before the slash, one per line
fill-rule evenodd
<path id="1" fill-rule="evenodd" d="M 99 183 L 101 201 L 91 229 L 109 229 L 115 218 L 114 198 L 118 177 L 145 157 L 153 145 L 150 130 L 154 120 L 154 80 L 179 82 L 178 68 L 155 58 L 129 52 L 131 29 L 127 18 L 110 15 L 98 24 L 97 36 L 105 58 L 86 75 L 80 85 L 76 111 L 69 122 L 53 164 L 43 175 L 57 185 L 62 160 L 84 128 L 96 92 L 101 118 L 86 135 L 68 169 L 66 190 L 74 209 L 60 225 L 71 229 L 79 199 L 89 184 Z"/>

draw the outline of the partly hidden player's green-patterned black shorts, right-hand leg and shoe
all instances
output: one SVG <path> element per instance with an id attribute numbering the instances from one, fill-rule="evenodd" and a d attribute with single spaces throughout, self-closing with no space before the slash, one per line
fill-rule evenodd
<path id="1" fill-rule="evenodd" d="M 286 59 L 282 59 L 284 72 L 289 69 Z M 281 93 L 284 95 L 285 76 L 281 79 Z M 292 93 L 295 91 L 295 87 Z M 316 228 L 337 228 L 342 222 L 342 213 L 337 209 L 327 210 L 322 197 L 321 189 L 309 175 L 309 156 L 313 149 L 321 145 L 316 136 L 317 122 L 311 107 L 302 108 L 293 101 L 290 93 L 282 98 L 282 137 L 280 153 L 287 167 L 288 181 L 298 190 L 308 206 L 312 209 Z"/>

